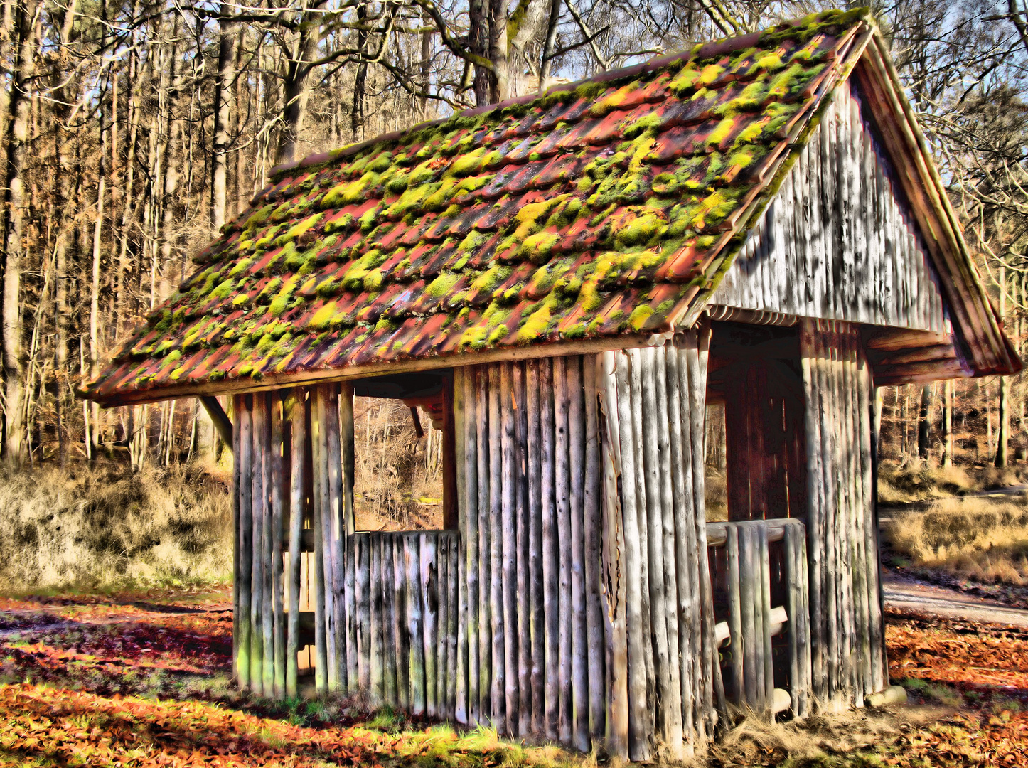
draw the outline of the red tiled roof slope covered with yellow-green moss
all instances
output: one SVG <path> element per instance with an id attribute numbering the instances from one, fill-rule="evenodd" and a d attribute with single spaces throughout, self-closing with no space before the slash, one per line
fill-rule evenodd
<path id="1" fill-rule="evenodd" d="M 691 323 L 871 27 L 811 15 L 284 166 L 85 394 Z"/>

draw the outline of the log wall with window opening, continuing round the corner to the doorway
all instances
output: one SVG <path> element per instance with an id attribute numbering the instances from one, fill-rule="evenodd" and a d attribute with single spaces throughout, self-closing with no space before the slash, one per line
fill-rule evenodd
<path id="1" fill-rule="evenodd" d="M 345 385 L 236 397 L 241 685 L 313 667 L 315 693 L 634 759 L 710 737 L 705 339 L 454 369 L 444 532 L 354 533 Z"/>

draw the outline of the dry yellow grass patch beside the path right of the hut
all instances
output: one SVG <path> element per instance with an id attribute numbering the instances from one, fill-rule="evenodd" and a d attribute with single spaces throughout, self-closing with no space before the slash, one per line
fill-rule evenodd
<path id="1" fill-rule="evenodd" d="M 1028 583 L 1024 499 L 943 499 L 923 512 L 896 513 L 885 534 L 892 549 L 913 565 L 988 584 Z"/>

